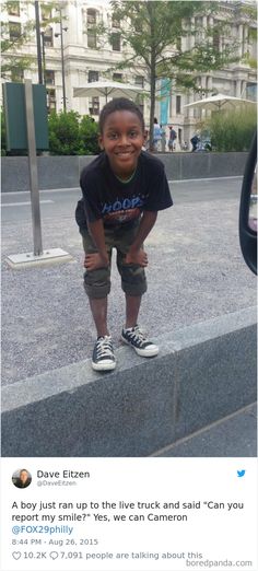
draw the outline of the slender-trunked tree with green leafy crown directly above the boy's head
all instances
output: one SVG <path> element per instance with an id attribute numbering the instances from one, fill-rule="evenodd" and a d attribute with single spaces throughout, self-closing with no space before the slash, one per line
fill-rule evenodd
<path id="1" fill-rule="evenodd" d="M 150 141 L 153 141 L 154 106 L 157 80 L 173 81 L 174 88 L 200 91 L 200 73 L 222 69 L 236 61 L 236 43 L 233 38 L 219 47 L 219 36 L 228 38 L 228 21 L 220 16 L 220 2 L 212 1 L 113 1 L 113 14 L 124 44 L 129 47 L 128 57 L 113 69 L 146 70 L 150 85 Z M 203 28 L 191 23 L 194 16 L 213 16 L 212 25 Z M 114 33 L 98 25 L 98 34 Z M 117 34 L 117 28 L 116 28 Z M 195 36 L 195 46 L 181 49 L 180 38 Z M 201 90 L 203 91 L 203 90 Z M 152 148 L 152 144 L 151 144 Z"/>

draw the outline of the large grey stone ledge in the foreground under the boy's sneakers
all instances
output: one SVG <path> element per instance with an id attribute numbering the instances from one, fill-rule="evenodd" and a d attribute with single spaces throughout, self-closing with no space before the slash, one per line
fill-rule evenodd
<path id="1" fill-rule="evenodd" d="M 146 456 L 256 399 L 256 308 L 169 331 L 154 359 L 117 351 L 2 388 L 2 456 Z"/>

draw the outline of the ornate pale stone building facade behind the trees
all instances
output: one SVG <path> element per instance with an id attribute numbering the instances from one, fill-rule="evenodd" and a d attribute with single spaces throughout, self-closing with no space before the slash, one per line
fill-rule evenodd
<path id="1" fill-rule="evenodd" d="M 23 7 L 22 7 L 23 4 Z M 24 8 L 25 4 L 25 8 Z M 166 115 L 164 120 L 164 101 L 156 98 L 155 116 L 160 123 L 173 125 L 176 130 L 177 148 L 184 141 L 189 141 L 196 130 L 196 125 L 200 119 L 200 110 L 185 109 L 185 105 L 204 97 L 208 94 L 223 93 L 236 97 L 250 98 L 256 101 L 256 69 L 251 67 L 245 55 L 248 53 L 250 58 L 256 58 L 256 40 L 250 28 L 256 28 L 256 22 L 237 12 L 237 4 L 243 2 L 221 2 L 223 14 L 235 11 L 236 18 L 232 24 L 232 37 L 238 39 L 238 61 L 230 63 L 220 71 L 212 71 L 200 74 L 198 79 L 199 93 L 183 93 L 173 88 L 166 94 Z M 10 38 L 22 33 L 23 26 L 27 21 L 35 20 L 35 7 L 26 2 L 8 2 L 8 10 L 2 15 L 2 20 L 9 23 Z M 125 83 L 137 84 L 149 91 L 148 79 L 144 68 L 139 68 L 133 72 L 126 70 L 113 70 L 119 61 L 128 56 L 128 46 L 124 45 L 119 34 L 119 22 L 112 13 L 110 4 L 107 1 L 98 0 L 70 0 L 59 2 L 60 10 L 46 10 L 44 2 L 38 2 L 39 20 L 44 23 L 40 28 L 42 60 L 43 60 L 43 81 L 47 89 L 47 105 L 49 112 L 63 109 L 75 110 L 80 115 L 92 115 L 95 120 L 98 118 L 99 110 L 105 104 L 104 97 L 74 97 L 73 89 L 83 86 L 85 83 L 113 80 Z M 238 15 L 237 15 L 238 14 Z M 52 21 L 56 16 L 58 21 Z M 58 18 L 60 16 L 60 18 Z M 49 21 L 49 25 L 48 25 Z M 102 22 L 113 33 L 113 42 L 108 43 L 96 35 L 95 26 Z M 198 16 L 192 19 L 190 25 L 206 28 L 212 26 L 212 18 Z M 181 37 L 180 49 L 191 49 L 195 46 L 197 36 L 188 35 Z M 214 37 L 219 47 L 227 40 L 225 37 Z M 19 78 L 12 74 L 5 75 L 2 81 L 23 81 L 32 79 L 33 83 L 38 82 L 38 62 L 36 35 L 21 47 L 21 55 L 34 56 L 34 63 L 25 70 Z M 4 60 L 4 55 L 2 56 Z M 109 70 L 109 71 L 108 71 Z M 159 85 L 157 85 L 159 88 Z M 162 88 L 162 85 L 160 85 Z M 160 92 L 161 93 L 161 92 Z M 159 91 L 157 91 L 159 94 Z M 143 110 L 146 127 L 149 127 L 150 102 L 148 98 L 138 102 Z"/>

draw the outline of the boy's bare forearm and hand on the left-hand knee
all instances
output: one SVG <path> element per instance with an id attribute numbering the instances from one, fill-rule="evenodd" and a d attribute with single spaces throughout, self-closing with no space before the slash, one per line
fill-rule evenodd
<path id="1" fill-rule="evenodd" d="M 97 253 L 87 254 L 85 256 L 84 267 L 89 270 L 93 270 L 97 268 L 103 268 L 104 266 L 108 266 L 109 258 L 106 250 L 103 220 L 98 219 L 94 222 L 89 222 L 87 220 L 87 230 L 97 248 Z"/>

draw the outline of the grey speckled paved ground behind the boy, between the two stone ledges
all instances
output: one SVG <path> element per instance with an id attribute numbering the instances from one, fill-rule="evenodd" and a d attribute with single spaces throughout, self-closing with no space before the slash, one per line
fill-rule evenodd
<path id="1" fill-rule="evenodd" d="M 235 184 L 239 190 L 241 180 Z M 74 205 L 77 196 L 74 191 Z M 239 249 L 238 203 L 239 191 L 223 201 L 175 203 L 159 214 L 145 243 L 149 290 L 140 314 L 150 336 L 256 304 L 256 278 Z M 2 229 L 3 384 L 79 362 L 92 352 L 95 330 L 82 286 L 73 208 L 60 218 L 45 215 L 43 236 L 44 248 L 62 247 L 73 261 L 12 270 L 5 256 L 32 250 L 32 222 Z M 114 259 L 108 313 L 116 347 L 124 312 Z"/>

